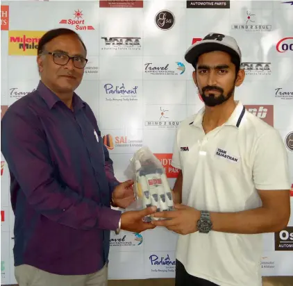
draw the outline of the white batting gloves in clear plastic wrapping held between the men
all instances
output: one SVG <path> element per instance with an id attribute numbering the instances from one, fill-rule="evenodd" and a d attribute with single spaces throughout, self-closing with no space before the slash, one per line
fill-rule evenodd
<path id="1" fill-rule="evenodd" d="M 157 212 L 174 210 L 165 169 L 148 147 L 144 146 L 135 152 L 131 158 L 131 172 L 136 208 L 143 209 L 155 205 Z M 151 219 L 160 218 L 148 217 L 148 220 Z"/>

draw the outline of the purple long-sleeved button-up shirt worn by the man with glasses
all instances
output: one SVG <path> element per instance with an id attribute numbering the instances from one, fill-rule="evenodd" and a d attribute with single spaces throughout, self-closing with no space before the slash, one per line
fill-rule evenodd
<path id="1" fill-rule="evenodd" d="M 108 260 L 110 208 L 119 184 L 90 107 L 74 111 L 41 81 L 1 120 L 1 151 L 10 170 L 15 266 L 60 275 L 91 274 Z"/>

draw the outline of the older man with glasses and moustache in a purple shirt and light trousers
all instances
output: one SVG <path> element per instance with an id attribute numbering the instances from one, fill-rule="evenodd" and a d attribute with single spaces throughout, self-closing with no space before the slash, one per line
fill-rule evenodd
<path id="1" fill-rule="evenodd" d="M 119 183 L 90 106 L 75 92 L 87 50 L 72 30 L 40 39 L 37 89 L 1 120 L 1 151 L 10 169 L 19 286 L 107 285 L 110 230 L 154 228 L 152 208 L 120 212 L 133 181 Z"/>

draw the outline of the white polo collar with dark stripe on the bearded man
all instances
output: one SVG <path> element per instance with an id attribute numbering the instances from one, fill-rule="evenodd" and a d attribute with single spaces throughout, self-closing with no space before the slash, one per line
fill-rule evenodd
<path id="1" fill-rule="evenodd" d="M 201 110 L 199 110 L 199 112 L 196 113 L 193 121 L 190 122 L 190 125 L 201 128 L 203 124 L 204 112 L 205 112 L 205 107 L 201 108 Z M 224 125 L 230 125 L 230 126 L 235 126 L 239 128 L 242 118 L 244 116 L 244 113 L 245 113 L 245 108 L 243 104 L 240 101 L 238 101 L 237 106 L 235 107 L 235 110 L 233 111 L 229 119 L 224 123 Z"/>

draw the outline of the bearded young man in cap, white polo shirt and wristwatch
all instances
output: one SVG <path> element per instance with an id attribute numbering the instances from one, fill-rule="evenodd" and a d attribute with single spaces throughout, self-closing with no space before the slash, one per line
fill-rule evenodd
<path id="1" fill-rule="evenodd" d="M 171 165 L 181 169 L 174 200 L 182 204 L 154 214 L 169 219 L 153 224 L 179 234 L 176 286 L 260 286 L 261 233 L 290 218 L 287 152 L 278 131 L 234 101 L 245 74 L 233 37 L 210 33 L 185 60 L 205 107 L 176 133 Z"/>

